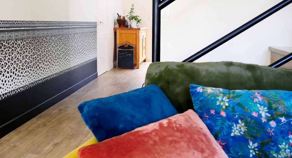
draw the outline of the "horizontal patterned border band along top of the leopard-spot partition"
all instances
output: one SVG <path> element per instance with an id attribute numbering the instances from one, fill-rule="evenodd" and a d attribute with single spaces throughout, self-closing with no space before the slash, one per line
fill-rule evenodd
<path id="1" fill-rule="evenodd" d="M 96 32 L 97 22 L 0 21 L 0 41 Z"/>

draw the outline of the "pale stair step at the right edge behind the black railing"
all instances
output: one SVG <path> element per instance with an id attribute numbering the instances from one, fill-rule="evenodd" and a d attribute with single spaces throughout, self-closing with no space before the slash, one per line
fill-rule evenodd
<path id="1" fill-rule="evenodd" d="M 292 53 L 292 47 L 269 47 L 269 51 L 271 51 L 271 63 L 274 63 L 280 58 Z M 292 69 L 292 60 L 280 66 L 280 68 Z"/>

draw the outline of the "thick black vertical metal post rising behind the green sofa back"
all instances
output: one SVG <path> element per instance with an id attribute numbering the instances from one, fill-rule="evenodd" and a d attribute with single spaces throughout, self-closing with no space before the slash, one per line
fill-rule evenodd
<path id="1" fill-rule="evenodd" d="M 160 61 L 160 0 L 152 1 L 152 62 Z"/>

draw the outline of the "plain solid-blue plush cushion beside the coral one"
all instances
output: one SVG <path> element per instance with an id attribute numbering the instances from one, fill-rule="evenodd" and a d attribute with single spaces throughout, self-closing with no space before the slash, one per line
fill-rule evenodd
<path id="1" fill-rule="evenodd" d="M 178 114 L 157 85 L 82 102 L 78 110 L 99 142 Z"/>

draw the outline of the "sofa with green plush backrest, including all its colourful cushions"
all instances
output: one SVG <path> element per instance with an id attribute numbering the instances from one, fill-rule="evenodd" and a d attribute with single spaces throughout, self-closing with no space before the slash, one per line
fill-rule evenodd
<path id="1" fill-rule="evenodd" d="M 151 63 L 142 90 L 79 105 L 83 120 L 92 131 L 96 130 L 93 133 L 99 141 L 93 137 L 65 157 L 78 157 L 78 151 L 84 157 L 103 153 L 113 154 L 111 157 L 291 157 L 291 78 L 292 70 L 255 64 Z M 145 107 L 133 109 L 140 106 L 135 104 L 136 94 L 146 98 L 141 105 Z M 126 98 L 124 102 L 116 103 L 122 98 Z M 131 98 L 133 103 L 125 104 Z M 102 105 L 101 109 L 95 104 Z M 123 108 L 115 113 L 113 104 Z M 134 119 L 117 123 L 124 117 L 119 113 L 128 107 L 127 115 L 135 115 Z M 140 111 L 139 116 L 132 114 L 135 110 Z M 114 116 L 98 116 L 109 113 Z M 108 120 L 119 129 L 109 126 Z M 125 127 L 125 122 L 131 127 Z M 111 128 L 111 135 L 108 130 L 98 131 L 104 127 Z"/>

